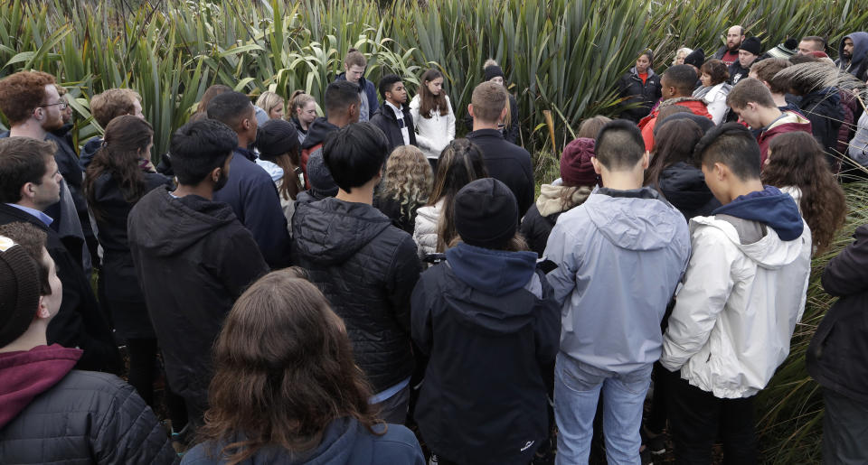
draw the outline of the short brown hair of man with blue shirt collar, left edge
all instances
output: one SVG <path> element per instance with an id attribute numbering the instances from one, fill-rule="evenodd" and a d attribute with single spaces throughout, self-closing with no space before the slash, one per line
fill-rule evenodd
<path id="1" fill-rule="evenodd" d="M 24 184 L 42 184 L 46 165 L 56 151 L 57 146 L 50 141 L 30 137 L 0 139 L 0 202 L 18 203 Z"/>

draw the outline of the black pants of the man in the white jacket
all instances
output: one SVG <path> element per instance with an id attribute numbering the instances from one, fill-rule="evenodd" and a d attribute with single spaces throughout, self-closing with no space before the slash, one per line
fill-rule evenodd
<path id="1" fill-rule="evenodd" d="M 712 445 L 718 436 L 723 441 L 723 463 L 757 462 L 753 396 L 720 399 L 680 377 L 671 380 L 668 388 L 669 429 L 676 463 L 712 463 Z"/>

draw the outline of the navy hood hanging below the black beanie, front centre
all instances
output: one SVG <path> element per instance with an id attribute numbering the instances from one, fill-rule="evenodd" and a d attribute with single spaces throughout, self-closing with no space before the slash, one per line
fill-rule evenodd
<path id="1" fill-rule="evenodd" d="M 523 288 L 536 270 L 536 258 L 533 252 L 506 252 L 464 243 L 446 251 L 448 264 L 458 279 L 494 296 Z"/>

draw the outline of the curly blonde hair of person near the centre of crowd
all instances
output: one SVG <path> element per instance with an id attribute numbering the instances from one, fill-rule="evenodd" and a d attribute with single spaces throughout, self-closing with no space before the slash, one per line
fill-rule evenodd
<path id="1" fill-rule="evenodd" d="M 382 179 L 382 199 L 397 200 L 401 215 L 407 219 L 428 202 L 434 174 L 425 155 L 414 145 L 401 145 L 392 151 Z"/>

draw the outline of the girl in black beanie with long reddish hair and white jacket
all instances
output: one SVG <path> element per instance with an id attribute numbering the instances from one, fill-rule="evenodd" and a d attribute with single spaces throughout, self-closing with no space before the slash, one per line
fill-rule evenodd
<path id="1" fill-rule="evenodd" d="M 294 204 L 301 186 L 304 185 L 304 175 L 298 160 L 298 131 L 296 126 L 283 119 L 269 119 L 259 126 L 256 133 L 256 148 L 259 158 L 256 164 L 265 169 L 278 188 L 280 208 L 287 218 L 290 234 Z"/>

